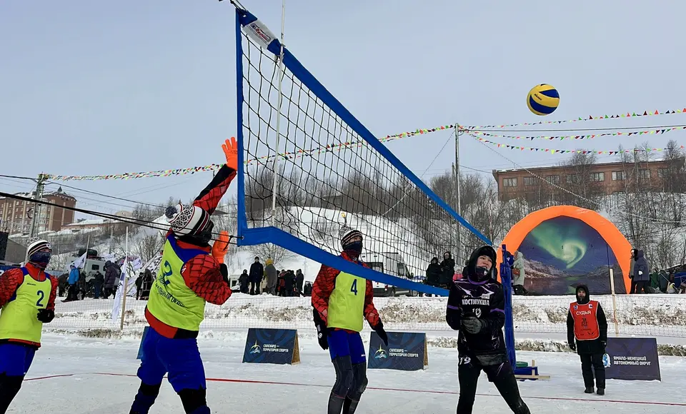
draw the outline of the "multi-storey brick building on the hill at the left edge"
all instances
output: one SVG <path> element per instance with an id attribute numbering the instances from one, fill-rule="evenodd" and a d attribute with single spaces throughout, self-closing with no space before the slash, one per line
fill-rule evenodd
<path id="1" fill-rule="evenodd" d="M 34 193 L 19 193 L 17 196 L 33 198 Z M 64 193 L 60 187 L 53 193 L 44 193 L 43 201 L 73 208 L 76 198 Z M 41 231 L 60 231 L 62 226 L 74 221 L 74 211 L 56 206 L 39 205 L 38 233 Z M 10 234 L 29 233 L 34 203 L 14 198 L 0 197 L 0 231 Z"/>

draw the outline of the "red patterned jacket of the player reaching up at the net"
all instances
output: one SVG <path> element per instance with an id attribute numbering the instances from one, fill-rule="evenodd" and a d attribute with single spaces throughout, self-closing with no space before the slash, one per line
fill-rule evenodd
<path id="1" fill-rule="evenodd" d="M 222 200 L 235 176 L 236 171 L 224 165 L 217 171 L 217 175 L 214 176 L 212 182 L 200 192 L 193 205 L 202 208 L 210 214 L 214 213 L 219 205 L 219 201 Z M 167 237 L 172 235 L 172 231 L 167 233 Z M 177 246 L 207 251 L 207 253 L 212 251 L 210 246 L 196 246 L 184 243 L 178 239 Z M 181 276 L 183 276 L 186 286 L 194 291 L 197 296 L 214 305 L 222 305 L 232 294 L 231 289 L 224 282 L 222 273 L 219 271 L 219 263 L 211 254 L 201 254 L 187 261 L 181 269 Z M 197 336 L 197 332 L 190 332 L 166 325 L 166 323 L 155 318 L 147 308 L 145 309 L 145 318 L 154 330 L 166 338 L 195 338 Z"/>

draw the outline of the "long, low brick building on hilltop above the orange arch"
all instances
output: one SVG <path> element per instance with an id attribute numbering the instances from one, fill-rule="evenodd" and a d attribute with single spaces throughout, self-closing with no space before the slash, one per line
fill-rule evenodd
<path id="1" fill-rule="evenodd" d="M 501 200 L 523 198 L 545 191 L 563 193 L 559 188 L 592 195 L 610 195 L 646 188 L 657 191 L 686 192 L 684 158 L 637 163 L 590 163 L 577 166 L 547 166 L 526 169 L 493 170 Z M 547 181 L 547 183 L 543 182 Z M 591 194 L 590 194 L 591 195 Z"/>

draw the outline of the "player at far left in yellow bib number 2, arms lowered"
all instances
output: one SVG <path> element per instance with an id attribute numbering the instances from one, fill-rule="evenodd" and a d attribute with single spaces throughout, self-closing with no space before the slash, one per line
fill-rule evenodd
<path id="1" fill-rule="evenodd" d="M 19 393 L 36 350 L 43 323 L 55 317 L 57 278 L 45 273 L 50 243 L 29 238 L 26 266 L 0 275 L 0 414 Z"/>

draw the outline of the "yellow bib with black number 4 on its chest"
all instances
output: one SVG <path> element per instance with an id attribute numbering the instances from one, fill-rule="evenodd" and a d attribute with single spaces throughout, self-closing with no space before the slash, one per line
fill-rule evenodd
<path id="1" fill-rule="evenodd" d="M 329 297 L 329 328 L 362 331 L 367 280 L 341 272 Z"/>

